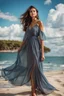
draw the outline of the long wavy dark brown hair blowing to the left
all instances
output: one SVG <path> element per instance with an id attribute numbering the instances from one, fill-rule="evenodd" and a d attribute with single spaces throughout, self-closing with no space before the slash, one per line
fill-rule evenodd
<path id="1" fill-rule="evenodd" d="M 30 6 L 26 12 L 24 12 L 21 16 L 20 16 L 20 22 L 23 25 L 23 31 L 26 31 L 27 27 L 29 27 L 29 25 L 32 22 L 32 18 L 30 16 L 30 10 L 31 8 L 35 8 L 34 6 Z M 36 9 L 36 8 L 35 8 Z M 38 15 L 38 10 L 36 9 L 37 12 L 37 16 L 36 18 L 39 19 L 39 15 Z"/>

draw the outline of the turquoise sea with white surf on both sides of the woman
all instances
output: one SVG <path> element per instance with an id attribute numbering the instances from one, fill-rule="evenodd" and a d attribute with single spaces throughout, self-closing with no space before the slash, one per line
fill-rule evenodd
<path id="1" fill-rule="evenodd" d="M 0 52 L 0 70 L 14 64 L 17 52 Z M 64 56 L 45 56 L 43 71 L 64 70 Z"/>

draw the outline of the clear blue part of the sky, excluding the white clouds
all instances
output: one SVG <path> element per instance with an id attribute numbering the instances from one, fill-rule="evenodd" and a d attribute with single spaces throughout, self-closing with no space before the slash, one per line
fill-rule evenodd
<path id="1" fill-rule="evenodd" d="M 64 0 L 52 0 L 49 5 L 44 3 L 45 0 L 0 0 L 0 11 L 3 13 L 9 12 L 11 15 L 19 18 L 30 5 L 33 5 L 38 9 L 40 19 L 46 24 L 49 10 L 55 8 L 59 3 L 64 3 Z M 20 23 L 20 21 L 9 21 L 0 18 L 0 26 L 10 26 L 13 23 Z"/>

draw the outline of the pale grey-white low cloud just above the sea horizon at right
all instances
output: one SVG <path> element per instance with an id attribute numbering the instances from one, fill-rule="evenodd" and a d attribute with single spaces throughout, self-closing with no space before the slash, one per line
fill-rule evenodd
<path id="1" fill-rule="evenodd" d="M 64 38 L 51 38 L 45 42 L 45 45 L 51 49 L 46 56 L 64 56 Z"/>

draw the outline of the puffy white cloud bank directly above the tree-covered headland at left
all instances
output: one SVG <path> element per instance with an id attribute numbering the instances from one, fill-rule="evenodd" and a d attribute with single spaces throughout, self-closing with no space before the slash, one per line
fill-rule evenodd
<path id="1" fill-rule="evenodd" d="M 22 40 L 24 32 L 19 24 L 12 24 L 9 27 L 0 27 L 0 39 Z"/>

